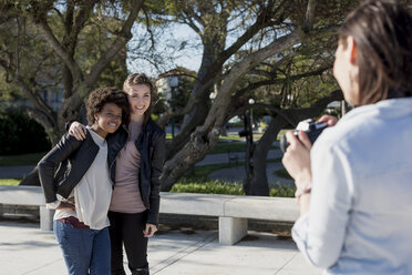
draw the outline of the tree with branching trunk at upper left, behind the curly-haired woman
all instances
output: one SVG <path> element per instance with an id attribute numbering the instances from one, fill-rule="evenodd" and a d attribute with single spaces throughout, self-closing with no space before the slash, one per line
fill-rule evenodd
<path id="1" fill-rule="evenodd" d="M 99 85 L 123 83 L 126 43 L 143 1 L 6 1 L 0 3 L 2 81 L 30 100 L 30 116 L 56 143 Z M 40 94 L 62 92 L 56 112 Z"/>

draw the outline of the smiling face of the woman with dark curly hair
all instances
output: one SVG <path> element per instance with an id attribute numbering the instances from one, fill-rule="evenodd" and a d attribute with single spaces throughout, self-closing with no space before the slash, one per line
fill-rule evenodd
<path id="1" fill-rule="evenodd" d="M 94 118 L 95 122 L 92 129 L 105 139 L 107 134 L 114 133 L 122 124 L 122 108 L 114 103 L 106 103 Z"/>

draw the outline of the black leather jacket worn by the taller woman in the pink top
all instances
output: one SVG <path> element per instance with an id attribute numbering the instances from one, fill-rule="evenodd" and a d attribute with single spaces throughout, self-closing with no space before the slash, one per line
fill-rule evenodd
<path id="1" fill-rule="evenodd" d="M 116 159 L 119 152 L 126 145 L 128 132 L 125 129 L 107 136 L 110 144 L 109 159 Z M 142 133 L 135 141 L 141 154 L 141 169 L 138 170 L 138 187 L 144 205 L 147 207 L 147 223 L 158 224 L 161 205 L 161 181 L 165 161 L 165 132 L 152 120 L 142 128 Z M 115 161 L 110 166 L 112 181 L 115 182 Z M 136 171 L 137 172 L 137 171 Z"/>

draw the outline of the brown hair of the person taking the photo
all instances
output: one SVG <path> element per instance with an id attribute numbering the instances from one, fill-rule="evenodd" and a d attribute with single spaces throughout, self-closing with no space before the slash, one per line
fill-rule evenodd
<path id="1" fill-rule="evenodd" d="M 359 67 L 358 104 L 412 96 L 412 18 L 394 0 L 369 0 L 346 19 L 339 40 L 351 35 Z"/>

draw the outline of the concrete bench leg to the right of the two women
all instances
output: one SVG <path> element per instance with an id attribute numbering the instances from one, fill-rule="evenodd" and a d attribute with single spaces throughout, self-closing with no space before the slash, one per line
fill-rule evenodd
<path id="1" fill-rule="evenodd" d="M 247 218 L 219 216 L 219 244 L 233 245 L 247 235 Z"/>

